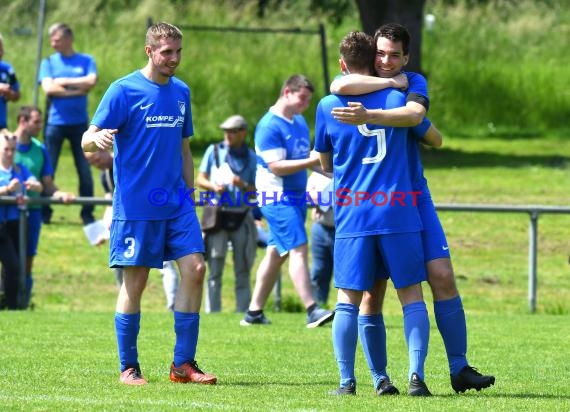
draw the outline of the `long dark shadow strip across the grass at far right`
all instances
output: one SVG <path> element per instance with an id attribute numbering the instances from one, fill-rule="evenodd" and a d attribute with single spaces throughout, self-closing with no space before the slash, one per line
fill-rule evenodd
<path id="1" fill-rule="evenodd" d="M 422 149 L 422 162 L 428 168 L 511 167 L 541 166 L 553 169 L 570 168 L 570 156 L 515 155 L 489 151 L 464 152 L 455 149 Z"/>

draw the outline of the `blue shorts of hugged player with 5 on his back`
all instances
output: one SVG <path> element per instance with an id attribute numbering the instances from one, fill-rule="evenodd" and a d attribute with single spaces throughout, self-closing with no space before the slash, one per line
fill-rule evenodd
<path id="1" fill-rule="evenodd" d="M 396 289 L 427 279 L 420 232 L 335 239 L 336 288 L 367 291 L 388 277 Z"/>

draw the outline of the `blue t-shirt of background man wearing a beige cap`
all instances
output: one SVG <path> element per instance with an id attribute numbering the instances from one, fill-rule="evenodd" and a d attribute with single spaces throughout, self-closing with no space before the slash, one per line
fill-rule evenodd
<path id="1" fill-rule="evenodd" d="M 204 157 L 202 158 L 202 163 L 200 163 L 200 172 L 207 173 L 210 177 L 211 181 L 219 178 L 220 175 L 226 175 L 225 171 L 220 171 L 220 168 L 228 167 L 231 170 L 231 173 L 239 176 L 243 181 L 248 182 L 249 184 L 255 183 L 255 169 L 257 167 L 257 157 L 255 152 L 251 149 L 247 149 L 247 154 L 243 157 L 231 157 L 231 164 L 228 163 L 228 146 L 224 142 L 218 144 L 218 162 L 219 167 L 216 166 L 216 160 L 214 156 L 214 145 L 208 146 L 206 152 L 204 153 Z M 218 169 L 216 171 L 216 169 Z M 218 175 L 218 176 L 214 176 Z M 221 179 L 222 181 L 224 179 Z M 214 182 L 217 183 L 217 182 Z M 223 182 L 226 188 L 225 193 L 229 196 L 229 199 L 226 199 L 225 196 L 222 198 L 222 202 L 227 206 L 242 206 L 244 203 L 244 193 L 241 195 L 239 194 L 240 188 L 234 186 L 233 184 L 227 184 Z M 201 199 L 204 196 L 201 197 Z M 220 196 L 216 194 L 216 199 L 220 199 Z"/>

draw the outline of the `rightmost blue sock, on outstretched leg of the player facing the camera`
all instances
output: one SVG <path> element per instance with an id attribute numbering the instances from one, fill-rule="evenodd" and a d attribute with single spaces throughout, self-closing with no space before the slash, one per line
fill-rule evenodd
<path id="1" fill-rule="evenodd" d="M 449 372 L 456 375 L 467 366 L 467 326 L 461 297 L 436 301 L 433 311 L 445 345 Z"/>

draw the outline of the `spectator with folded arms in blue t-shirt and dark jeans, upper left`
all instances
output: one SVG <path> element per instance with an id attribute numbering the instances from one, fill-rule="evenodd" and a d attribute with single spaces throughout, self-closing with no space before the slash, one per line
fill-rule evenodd
<path id="1" fill-rule="evenodd" d="M 55 53 L 42 60 L 38 79 L 47 101 L 45 144 L 56 173 L 63 142 L 69 140 L 79 177 L 79 195 L 92 197 L 93 177 L 81 150 L 81 136 L 89 121 L 87 94 L 97 82 L 97 67 L 93 57 L 74 50 L 73 31 L 67 24 L 53 24 L 48 34 Z M 84 225 L 95 221 L 93 210 L 92 205 L 81 207 Z M 51 208 L 45 206 L 44 223 L 51 221 L 51 215 Z"/>

